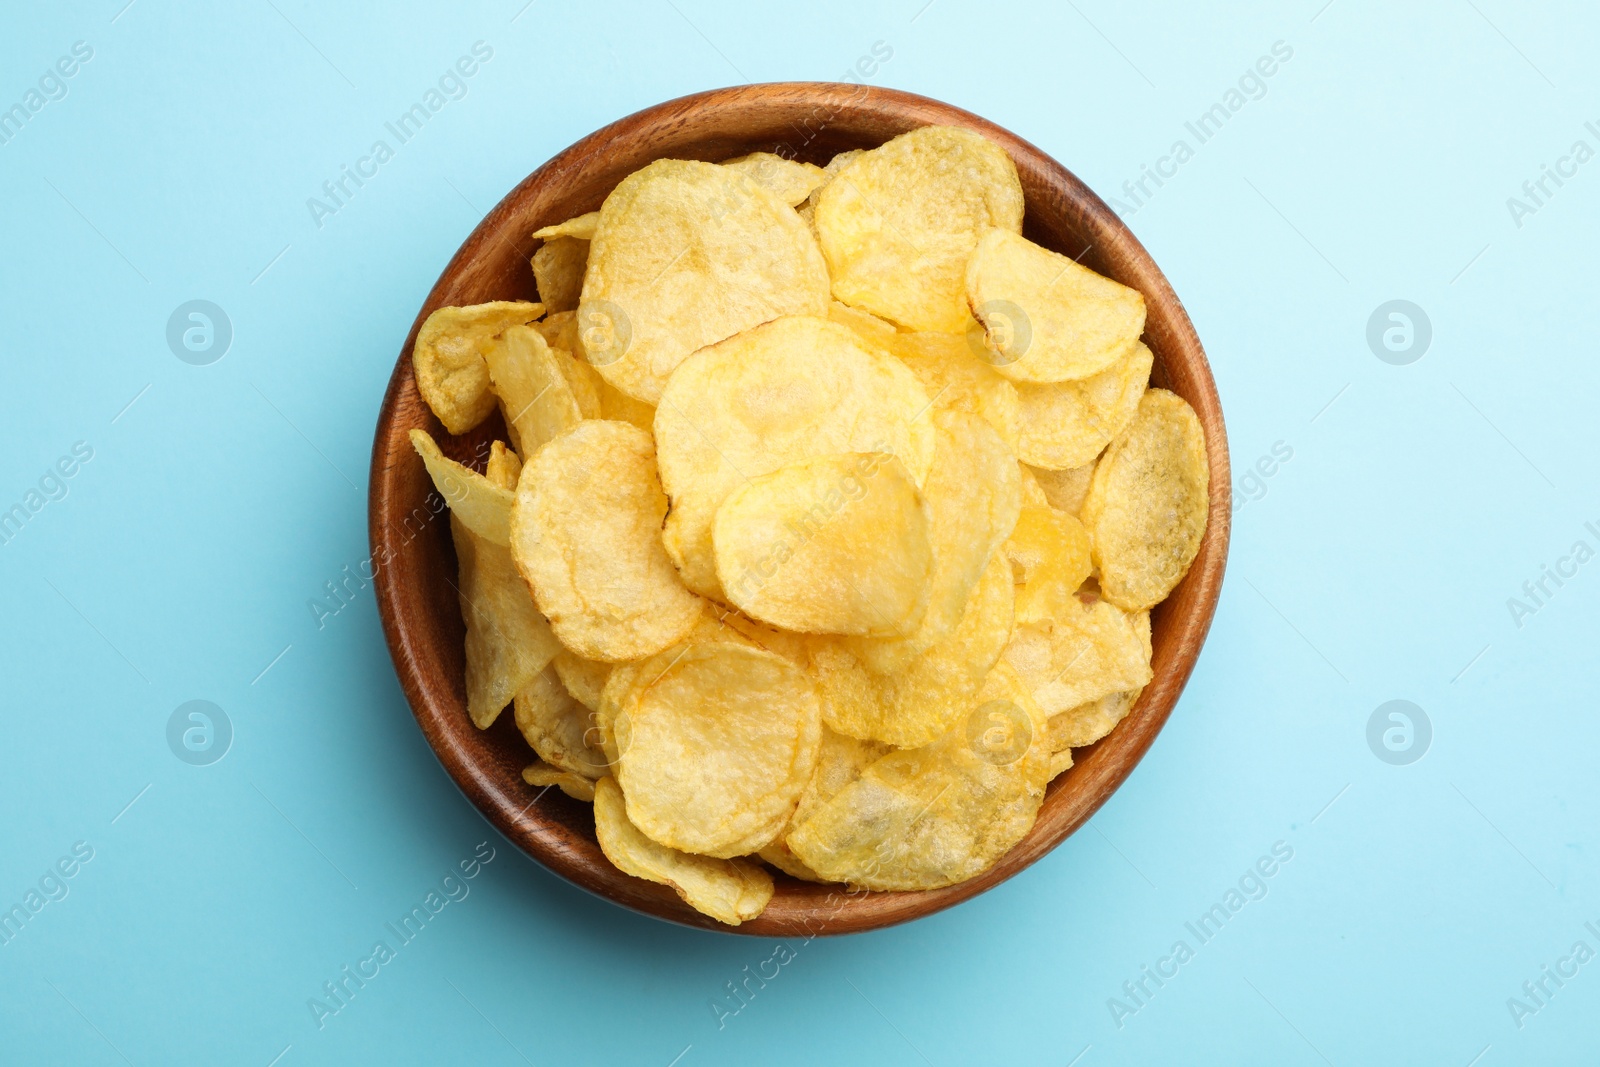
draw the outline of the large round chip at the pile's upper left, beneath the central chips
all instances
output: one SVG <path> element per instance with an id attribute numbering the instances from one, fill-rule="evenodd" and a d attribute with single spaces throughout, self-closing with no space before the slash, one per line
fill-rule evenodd
<path id="1" fill-rule="evenodd" d="M 578 307 L 586 358 L 656 403 L 691 352 L 827 312 L 827 267 L 794 210 L 736 170 L 656 160 L 600 208 Z"/>

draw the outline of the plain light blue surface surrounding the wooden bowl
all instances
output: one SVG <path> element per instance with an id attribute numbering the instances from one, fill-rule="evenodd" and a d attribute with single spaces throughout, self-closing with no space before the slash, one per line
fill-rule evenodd
<path id="1" fill-rule="evenodd" d="M 0 1061 L 1592 1056 L 1600 961 L 1520 1029 L 1507 998 L 1600 949 L 1600 563 L 1520 627 L 1506 601 L 1600 544 L 1600 162 L 1520 227 L 1506 200 L 1600 147 L 1600 21 L 1323 2 L 11 5 L 0 107 L 74 42 L 94 56 L 0 146 L 0 509 L 74 442 L 94 458 L 0 545 L 0 907 L 75 841 L 94 859 L 0 947 Z M 466 98 L 318 229 L 307 197 L 478 40 Z M 366 557 L 411 317 L 528 171 L 672 96 L 835 78 L 883 42 L 869 82 L 1114 195 L 1280 40 L 1266 96 L 1128 218 L 1210 350 L 1235 477 L 1293 450 L 1235 514 L 1171 721 L 1038 865 L 910 926 L 790 942 L 718 1029 L 709 1003 L 774 942 L 632 915 L 510 848 L 416 729 L 370 590 L 323 629 L 307 608 Z M 165 341 L 195 298 L 234 325 L 210 366 Z M 1397 298 L 1434 328 L 1406 366 L 1365 341 Z M 1366 744 L 1397 697 L 1434 726 L 1410 766 Z M 234 723 L 211 766 L 165 741 L 190 699 Z M 485 840 L 470 896 L 318 1029 L 307 998 Z M 1118 1029 L 1107 998 L 1194 945 L 1184 923 L 1275 841 L 1294 857 L 1269 894 Z"/>

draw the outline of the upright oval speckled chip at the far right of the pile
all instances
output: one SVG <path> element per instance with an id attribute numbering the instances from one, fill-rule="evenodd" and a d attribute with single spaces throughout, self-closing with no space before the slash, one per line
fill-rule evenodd
<path id="1" fill-rule="evenodd" d="M 1173 592 L 1200 552 L 1210 488 L 1198 416 L 1182 397 L 1152 389 L 1094 467 L 1083 501 L 1106 600 L 1133 611 Z"/>

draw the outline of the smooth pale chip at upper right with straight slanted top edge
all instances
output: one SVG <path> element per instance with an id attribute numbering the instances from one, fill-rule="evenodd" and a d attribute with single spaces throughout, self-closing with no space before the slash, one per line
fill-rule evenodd
<path id="1" fill-rule="evenodd" d="M 1098 374 L 1144 333 L 1138 290 L 1040 248 L 1019 230 L 987 230 L 965 267 L 966 304 L 984 325 L 994 368 L 1011 381 Z"/>

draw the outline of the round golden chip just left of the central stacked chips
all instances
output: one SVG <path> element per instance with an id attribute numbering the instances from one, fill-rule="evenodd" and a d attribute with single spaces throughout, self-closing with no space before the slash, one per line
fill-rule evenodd
<path id="1" fill-rule="evenodd" d="M 704 605 L 661 547 L 667 498 L 637 426 L 587 419 L 528 459 L 510 550 L 562 643 L 616 662 L 678 641 Z"/>

